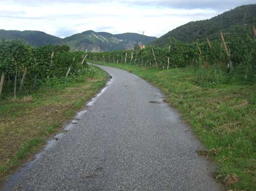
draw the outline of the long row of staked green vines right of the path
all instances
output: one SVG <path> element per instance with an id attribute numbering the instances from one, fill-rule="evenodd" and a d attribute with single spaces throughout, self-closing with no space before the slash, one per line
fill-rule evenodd
<path id="1" fill-rule="evenodd" d="M 205 42 L 182 43 L 171 38 L 166 47 L 147 46 L 130 51 L 89 53 L 88 59 L 101 62 L 138 64 L 161 69 L 203 64 L 211 67 L 225 64 L 227 71 L 245 68 L 247 74 L 256 72 L 256 30 L 235 28 L 232 33 L 220 33 L 220 39 Z"/>

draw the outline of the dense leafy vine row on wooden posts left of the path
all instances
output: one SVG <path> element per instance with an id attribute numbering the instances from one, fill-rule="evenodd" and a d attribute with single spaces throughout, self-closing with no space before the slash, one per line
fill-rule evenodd
<path id="1" fill-rule="evenodd" d="M 86 68 L 85 59 L 84 52 L 71 52 L 65 45 L 34 48 L 0 39 L 0 96 L 6 89 L 16 99 L 16 91 L 21 93 L 27 86 L 33 89 L 39 82 L 79 76 Z"/>

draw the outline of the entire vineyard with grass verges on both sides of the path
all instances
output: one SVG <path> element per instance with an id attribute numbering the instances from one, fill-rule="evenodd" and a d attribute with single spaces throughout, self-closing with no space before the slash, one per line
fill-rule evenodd
<path id="1" fill-rule="evenodd" d="M 214 41 L 171 38 L 167 44 L 85 53 L 71 52 L 65 45 L 31 47 L 0 39 L 0 182 L 106 84 L 106 72 L 88 66 L 89 59 L 158 86 L 206 146 L 197 152 L 216 162 L 215 178 L 228 188 L 255 190 L 255 27 L 220 32 Z M 96 76 L 88 80 L 92 73 Z M 75 82 L 66 85 L 70 79 Z M 32 93 L 33 101 L 18 102 Z M 230 185 L 229 177 L 235 177 Z"/>

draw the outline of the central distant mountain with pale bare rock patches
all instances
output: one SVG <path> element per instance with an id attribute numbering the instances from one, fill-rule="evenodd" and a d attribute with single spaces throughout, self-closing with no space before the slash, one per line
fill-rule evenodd
<path id="1" fill-rule="evenodd" d="M 148 44 L 157 38 L 144 35 L 143 39 L 144 44 Z M 130 50 L 135 44 L 142 43 L 142 35 L 136 33 L 110 34 L 88 30 L 64 38 L 62 43 L 70 46 L 71 50 L 97 52 L 100 51 L 101 47 L 102 51 Z"/>

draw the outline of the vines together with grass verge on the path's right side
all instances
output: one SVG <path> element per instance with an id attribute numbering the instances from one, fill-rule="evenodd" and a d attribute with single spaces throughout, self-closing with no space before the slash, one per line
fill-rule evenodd
<path id="1" fill-rule="evenodd" d="M 226 190 L 256 190 L 256 30 L 237 28 L 216 41 L 134 51 L 89 53 L 94 64 L 117 67 L 165 93 L 217 166 Z M 170 127 L 172 127 L 170 125 Z"/>

